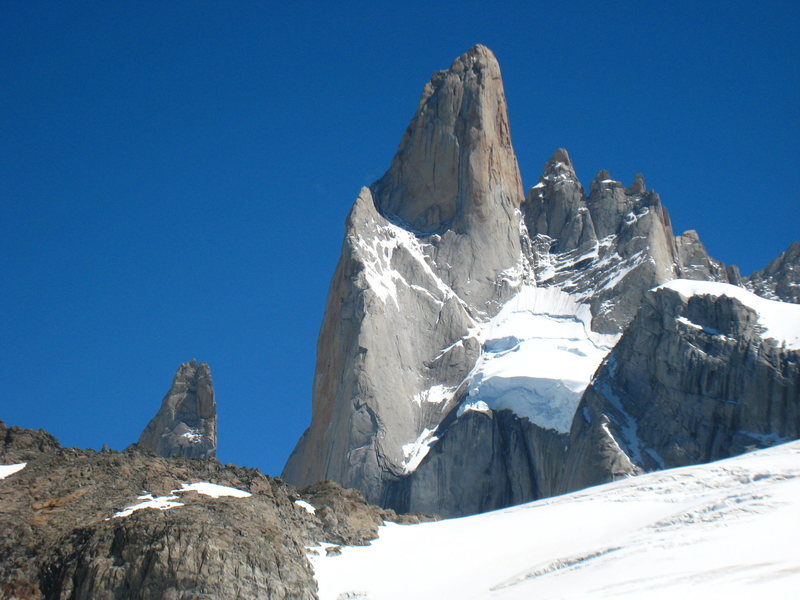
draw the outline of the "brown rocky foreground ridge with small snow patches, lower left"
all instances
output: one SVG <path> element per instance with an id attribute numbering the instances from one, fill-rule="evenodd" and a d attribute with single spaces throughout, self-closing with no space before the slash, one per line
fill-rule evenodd
<path id="1" fill-rule="evenodd" d="M 308 547 L 419 520 L 332 482 L 298 491 L 215 459 L 62 448 L 0 421 L 0 464 L 21 463 L 0 479 L 2 600 L 311 600 Z M 169 508 L 131 511 L 154 502 Z"/>

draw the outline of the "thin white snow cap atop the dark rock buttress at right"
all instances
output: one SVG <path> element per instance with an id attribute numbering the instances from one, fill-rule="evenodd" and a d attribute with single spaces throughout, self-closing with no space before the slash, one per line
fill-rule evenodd
<path id="1" fill-rule="evenodd" d="M 758 313 L 758 324 L 764 328 L 764 338 L 774 339 L 789 350 L 800 350 L 800 304 L 767 300 L 744 288 L 715 281 L 675 279 L 659 288 L 669 288 L 687 299 L 692 296 L 736 298 Z"/>

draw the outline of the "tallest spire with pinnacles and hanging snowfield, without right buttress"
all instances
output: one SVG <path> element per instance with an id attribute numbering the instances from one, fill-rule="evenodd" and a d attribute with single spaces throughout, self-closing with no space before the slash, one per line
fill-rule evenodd
<path id="1" fill-rule="evenodd" d="M 641 175 L 625 188 L 601 171 L 587 196 L 559 149 L 523 199 L 500 70 L 476 46 L 433 75 L 350 212 L 311 425 L 283 475 L 444 515 L 548 495 L 580 394 L 645 291 L 734 274 L 673 235 Z M 512 322 L 527 333 L 498 333 Z M 579 375 L 548 373 L 575 357 Z"/>

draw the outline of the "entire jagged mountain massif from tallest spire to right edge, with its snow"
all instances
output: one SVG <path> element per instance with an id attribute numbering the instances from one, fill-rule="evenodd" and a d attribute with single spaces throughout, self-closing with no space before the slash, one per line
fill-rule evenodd
<path id="1" fill-rule="evenodd" d="M 797 249 L 743 280 L 643 176 L 587 194 L 563 149 L 524 195 L 475 46 L 347 218 L 284 477 L 463 515 L 797 437 Z M 673 280 L 705 283 L 649 291 Z"/>

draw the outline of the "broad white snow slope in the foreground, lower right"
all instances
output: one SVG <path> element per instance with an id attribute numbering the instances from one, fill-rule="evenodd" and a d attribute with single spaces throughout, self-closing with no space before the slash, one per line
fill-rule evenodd
<path id="1" fill-rule="evenodd" d="M 795 598 L 800 441 L 312 554 L 321 600 Z"/>

